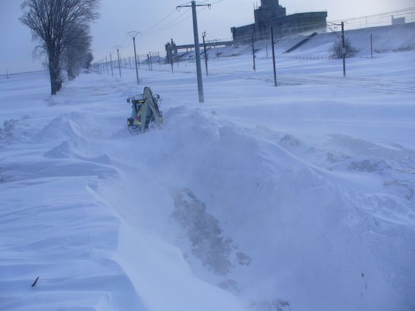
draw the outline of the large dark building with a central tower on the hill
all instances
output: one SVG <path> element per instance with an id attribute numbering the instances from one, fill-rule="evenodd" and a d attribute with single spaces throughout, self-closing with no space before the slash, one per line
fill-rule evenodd
<path id="1" fill-rule="evenodd" d="M 254 16 L 255 23 L 230 28 L 235 43 L 250 41 L 252 33 L 255 40 L 268 39 L 271 27 L 276 37 L 282 37 L 307 31 L 325 31 L 327 26 L 326 11 L 286 15 L 286 8 L 279 4 L 279 0 L 261 0 L 261 6 L 254 10 Z"/>

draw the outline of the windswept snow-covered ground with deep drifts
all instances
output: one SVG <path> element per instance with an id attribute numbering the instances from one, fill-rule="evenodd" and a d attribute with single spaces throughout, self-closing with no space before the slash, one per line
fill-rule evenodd
<path id="1" fill-rule="evenodd" d="M 0 310 L 415 310 L 415 52 L 265 53 L 2 77 Z"/>

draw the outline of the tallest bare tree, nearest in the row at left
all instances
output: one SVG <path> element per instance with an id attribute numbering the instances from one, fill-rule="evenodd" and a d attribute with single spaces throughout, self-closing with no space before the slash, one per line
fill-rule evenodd
<path id="1" fill-rule="evenodd" d="M 32 31 L 46 52 L 52 95 L 62 88 L 62 53 L 71 34 L 99 17 L 100 0 L 26 0 L 20 21 Z"/>

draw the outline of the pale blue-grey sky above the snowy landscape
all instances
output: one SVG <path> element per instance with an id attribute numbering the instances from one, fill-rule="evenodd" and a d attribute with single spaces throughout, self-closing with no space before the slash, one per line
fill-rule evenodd
<path id="1" fill-rule="evenodd" d="M 180 0 L 179 0 L 180 1 Z M 183 2 L 187 2 L 182 0 Z M 212 0 L 214 3 L 218 0 Z M 19 73 L 41 68 L 39 60 L 33 60 L 35 44 L 30 30 L 18 20 L 21 17 L 21 0 L 0 0 L 0 74 L 6 67 L 10 73 Z M 257 1 L 255 1 L 256 3 Z M 327 10 L 328 20 L 362 17 L 380 12 L 390 12 L 415 5 L 414 0 L 280 0 L 287 13 Z M 125 35 L 130 30 L 150 33 L 137 40 L 139 54 L 149 51 L 163 53 L 164 44 L 173 38 L 176 44 L 191 44 L 193 41 L 192 19 L 179 24 L 191 13 L 185 9 L 173 12 L 165 21 L 156 25 L 176 6 L 183 4 L 172 0 L 101 0 L 101 17 L 92 26 L 93 54 L 95 59 L 114 53 L 113 46 L 122 45 L 122 55 L 133 55 L 132 40 Z M 258 1 L 259 3 L 259 1 Z M 182 17 L 180 17 L 183 15 Z M 174 19 L 180 17 L 176 21 Z M 252 0 L 222 0 L 211 10 L 199 13 L 199 33 L 206 31 L 208 39 L 230 39 L 230 28 L 253 23 Z M 167 23 L 169 25 L 165 26 Z M 155 26 L 156 25 L 156 26 Z M 155 27 L 153 27 L 155 26 Z M 165 27 L 163 27 L 165 26 Z"/>

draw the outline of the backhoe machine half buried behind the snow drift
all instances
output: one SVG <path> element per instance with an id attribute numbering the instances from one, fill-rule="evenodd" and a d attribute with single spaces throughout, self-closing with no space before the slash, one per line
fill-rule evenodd
<path id="1" fill-rule="evenodd" d="M 127 119 L 129 131 L 144 133 L 153 123 L 157 126 L 163 124 L 163 113 L 159 110 L 160 95 L 153 95 L 150 88 L 145 87 L 144 93 L 127 98 L 127 102 L 133 109 Z"/>

